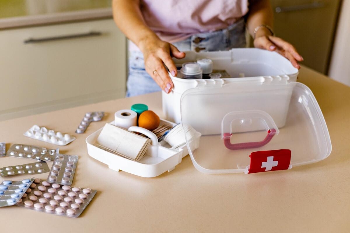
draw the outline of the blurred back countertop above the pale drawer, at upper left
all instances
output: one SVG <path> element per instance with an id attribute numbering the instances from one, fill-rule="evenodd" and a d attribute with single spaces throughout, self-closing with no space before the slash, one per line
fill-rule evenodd
<path id="1" fill-rule="evenodd" d="M 0 29 L 112 17 L 111 0 L 1 0 Z"/>

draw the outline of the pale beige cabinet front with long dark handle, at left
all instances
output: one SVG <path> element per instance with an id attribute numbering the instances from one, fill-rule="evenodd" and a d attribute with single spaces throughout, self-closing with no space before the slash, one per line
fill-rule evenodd
<path id="1" fill-rule="evenodd" d="M 112 19 L 0 30 L 0 70 L 0 120 L 124 97 L 126 38 Z"/>

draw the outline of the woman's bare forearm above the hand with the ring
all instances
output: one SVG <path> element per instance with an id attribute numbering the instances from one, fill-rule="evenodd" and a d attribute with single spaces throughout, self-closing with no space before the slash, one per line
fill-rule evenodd
<path id="1" fill-rule="evenodd" d="M 118 28 L 139 48 L 146 38 L 158 36 L 146 25 L 140 11 L 139 0 L 113 0 L 113 19 Z"/>

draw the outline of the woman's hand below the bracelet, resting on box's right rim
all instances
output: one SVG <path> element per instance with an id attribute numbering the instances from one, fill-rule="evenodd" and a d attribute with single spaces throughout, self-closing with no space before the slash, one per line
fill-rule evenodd
<path id="1" fill-rule="evenodd" d="M 271 36 L 270 32 L 264 29 L 265 28 L 261 28 L 257 31 L 254 39 L 254 47 L 266 49 L 268 51 L 276 51 L 286 57 L 295 68 L 300 69 L 300 65 L 297 61 L 303 61 L 304 59 L 296 51 L 294 46 L 279 37 Z"/>

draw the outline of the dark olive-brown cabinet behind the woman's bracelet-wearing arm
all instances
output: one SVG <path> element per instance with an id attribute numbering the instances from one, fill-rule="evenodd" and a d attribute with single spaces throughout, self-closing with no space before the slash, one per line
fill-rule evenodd
<path id="1" fill-rule="evenodd" d="M 271 0 L 276 36 L 292 43 L 303 65 L 327 73 L 340 0 Z"/>

